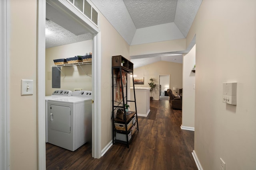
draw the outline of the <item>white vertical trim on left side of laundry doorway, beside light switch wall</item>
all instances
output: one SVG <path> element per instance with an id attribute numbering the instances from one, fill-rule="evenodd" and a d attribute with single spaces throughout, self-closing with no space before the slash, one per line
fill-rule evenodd
<path id="1" fill-rule="evenodd" d="M 45 146 L 45 17 L 46 0 L 38 0 L 37 15 L 37 152 L 38 170 L 46 169 L 46 146 Z"/>

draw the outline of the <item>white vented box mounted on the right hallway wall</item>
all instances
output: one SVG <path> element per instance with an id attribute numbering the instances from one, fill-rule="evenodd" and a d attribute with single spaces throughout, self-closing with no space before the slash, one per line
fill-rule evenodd
<path id="1" fill-rule="evenodd" d="M 223 83 L 223 103 L 236 105 L 236 88 L 237 83 Z"/>

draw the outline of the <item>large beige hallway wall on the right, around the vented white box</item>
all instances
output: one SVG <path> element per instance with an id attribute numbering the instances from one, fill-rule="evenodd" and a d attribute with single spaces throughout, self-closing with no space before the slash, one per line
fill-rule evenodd
<path id="1" fill-rule="evenodd" d="M 256 167 L 256 1 L 203 0 L 196 33 L 194 149 L 204 170 Z M 222 83 L 237 82 L 237 105 L 222 103 Z"/>

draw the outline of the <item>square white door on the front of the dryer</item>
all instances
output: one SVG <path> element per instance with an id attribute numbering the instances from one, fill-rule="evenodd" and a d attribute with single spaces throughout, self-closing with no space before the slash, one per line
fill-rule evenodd
<path id="1" fill-rule="evenodd" d="M 50 105 L 50 129 L 70 133 L 71 109 L 66 106 Z"/>

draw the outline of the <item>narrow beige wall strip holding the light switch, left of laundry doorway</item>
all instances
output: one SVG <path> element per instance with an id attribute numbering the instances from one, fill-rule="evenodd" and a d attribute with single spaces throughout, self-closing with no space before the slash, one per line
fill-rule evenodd
<path id="1" fill-rule="evenodd" d="M 10 170 L 37 169 L 36 0 L 10 2 Z M 22 8 L 21 8 L 22 7 Z M 25 21 L 26 20 L 26 21 Z M 21 96 L 21 79 L 34 93 Z"/>

